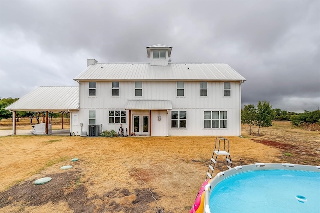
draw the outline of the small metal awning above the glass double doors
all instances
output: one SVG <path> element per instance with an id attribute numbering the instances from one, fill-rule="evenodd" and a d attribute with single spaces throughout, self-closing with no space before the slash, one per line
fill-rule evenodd
<path id="1" fill-rule="evenodd" d="M 168 110 L 172 109 L 171 100 L 128 100 L 124 109 Z"/>

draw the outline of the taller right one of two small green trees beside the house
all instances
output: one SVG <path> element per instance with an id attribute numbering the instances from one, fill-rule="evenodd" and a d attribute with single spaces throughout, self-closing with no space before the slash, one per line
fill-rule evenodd
<path id="1" fill-rule="evenodd" d="M 260 127 L 272 126 L 272 106 L 269 101 L 259 101 L 255 118 L 255 125 L 258 126 L 258 135 L 260 135 Z"/>

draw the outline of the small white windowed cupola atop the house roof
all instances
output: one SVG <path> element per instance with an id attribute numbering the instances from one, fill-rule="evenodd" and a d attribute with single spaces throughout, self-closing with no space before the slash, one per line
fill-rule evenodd
<path id="1" fill-rule="evenodd" d="M 151 66 L 168 66 L 171 57 L 172 47 L 157 44 L 146 47 L 148 58 L 151 58 Z"/>

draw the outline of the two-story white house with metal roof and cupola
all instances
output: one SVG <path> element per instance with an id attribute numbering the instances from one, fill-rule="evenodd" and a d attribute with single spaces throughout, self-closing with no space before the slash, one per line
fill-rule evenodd
<path id="1" fill-rule="evenodd" d="M 98 63 L 74 78 L 79 108 L 70 132 L 122 125 L 127 135 L 241 135 L 241 84 L 227 64 L 171 63 L 172 47 L 149 46 L 149 63 Z M 95 126 L 92 126 L 95 125 Z M 93 131 L 93 132 L 92 132 Z"/>

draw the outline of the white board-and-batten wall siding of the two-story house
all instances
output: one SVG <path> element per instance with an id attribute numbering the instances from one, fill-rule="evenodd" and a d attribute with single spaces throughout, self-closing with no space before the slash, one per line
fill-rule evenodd
<path id="1" fill-rule="evenodd" d="M 223 97 L 223 81 L 208 81 L 207 96 L 200 96 L 200 81 L 184 81 L 184 96 L 177 96 L 177 81 L 137 81 L 142 81 L 142 96 L 135 96 L 135 81 L 119 81 L 119 96 L 112 96 L 112 81 L 95 81 L 95 96 L 89 96 L 89 81 L 81 81 L 78 123 L 83 123 L 83 131 L 88 128 L 89 110 L 96 111 L 96 124 L 102 124 L 102 131 L 114 129 L 117 132 L 120 123 L 109 123 L 109 110 L 125 110 L 128 100 L 171 100 L 173 111 L 187 112 L 187 127 L 171 128 L 171 110 L 151 110 L 151 135 L 241 134 L 239 81 L 231 81 L 230 97 Z M 227 111 L 227 128 L 204 128 L 204 111 Z M 126 123 L 122 123 L 122 127 L 129 129 L 129 110 L 126 110 Z M 74 130 L 79 132 L 78 125 Z"/>

